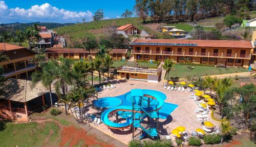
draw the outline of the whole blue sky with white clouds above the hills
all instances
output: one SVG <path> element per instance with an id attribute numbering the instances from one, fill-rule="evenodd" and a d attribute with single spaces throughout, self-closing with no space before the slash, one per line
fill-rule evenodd
<path id="1" fill-rule="evenodd" d="M 0 23 L 92 21 L 103 9 L 104 19 L 119 18 L 135 0 L 0 0 Z"/>

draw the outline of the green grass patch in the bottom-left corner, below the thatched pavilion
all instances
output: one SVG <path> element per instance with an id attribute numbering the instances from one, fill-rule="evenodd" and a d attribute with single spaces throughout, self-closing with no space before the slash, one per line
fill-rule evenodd
<path id="1" fill-rule="evenodd" d="M 56 145 L 59 137 L 59 127 L 53 122 L 45 124 L 7 123 L 6 128 L 0 131 L 0 146 L 48 146 Z M 51 133 L 50 133 L 51 132 Z M 48 140 L 49 138 L 49 140 Z M 45 144 L 46 143 L 46 144 Z"/>

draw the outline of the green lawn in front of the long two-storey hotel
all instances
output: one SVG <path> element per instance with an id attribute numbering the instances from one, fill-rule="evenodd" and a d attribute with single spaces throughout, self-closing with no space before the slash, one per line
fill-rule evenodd
<path id="1" fill-rule="evenodd" d="M 239 73 L 246 72 L 247 69 L 243 68 L 216 68 L 210 66 L 193 66 L 195 69 L 189 70 L 187 67 L 189 65 L 178 65 L 175 64 L 173 69 L 169 72 L 169 77 L 174 78 L 185 78 L 187 76 L 193 75 L 217 75 L 217 74 L 227 74 L 227 73 Z M 167 74 L 166 74 L 167 75 Z M 165 76 L 167 78 L 167 76 Z"/>

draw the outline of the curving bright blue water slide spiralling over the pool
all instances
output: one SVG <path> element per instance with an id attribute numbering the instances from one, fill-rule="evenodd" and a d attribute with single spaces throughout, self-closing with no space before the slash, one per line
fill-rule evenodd
<path id="1" fill-rule="evenodd" d="M 150 110 L 156 110 L 156 109 L 160 109 L 163 104 L 164 104 L 164 100 L 165 100 L 165 95 L 163 96 L 162 93 L 157 92 L 157 91 L 153 91 L 153 90 L 132 90 L 131 91 L 131 96 L 132 97 L 150 97 L 153 98 L 157 101 L 157 104 L 154 107 L 151 107 Z M 131 102 L 132 103 L 132 102 Z M 113 113 L 113 112 L 118 112 L 118 111 L 127 111 L 127 112 L 132 112 L 133 107 L 131 106 L 115 106 L 115 107 L 111 107 L 107 110 L 105 110 L 102 114 L 101 114 L 101 120 L 102 123 L 104 123 L 106 126 L 108 126 L 109 128 L 112 129 L 125 129 L 125 128 L 129 128 L 132 123 L 132 117 L 131 115 L 127 115 L 126 116 L 126 121 L 124 123 L 115 123 L 109 120 L 109 114 Z M 143 113 L 143 111 L 139 111 L 141 113 Z"/>

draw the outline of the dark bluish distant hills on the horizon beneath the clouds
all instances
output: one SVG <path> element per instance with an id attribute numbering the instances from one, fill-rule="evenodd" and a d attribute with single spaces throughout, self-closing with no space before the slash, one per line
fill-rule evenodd
<path id="1" fill-rule="evenodd" d="M 2 23 L 0 24 L 0 28 L 4 27 L 7 30 L 25 30 L 28 26 L 37 23 L 40 26 L 46 26 L 49 29 L 53 29 L 56 27 L 60 27 L 60 26 L 68 26 L 68 25 L 72 25 L 74 23 L 53 23 L 53 22 L 29 22 L 29 23 L 19 23 L 19 22 L 15 22 L 15 23 Z"/>

